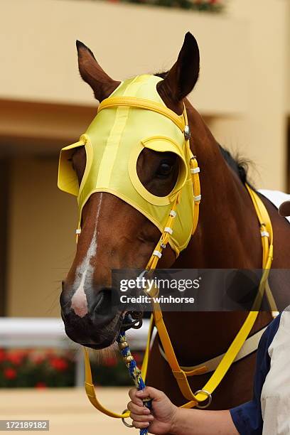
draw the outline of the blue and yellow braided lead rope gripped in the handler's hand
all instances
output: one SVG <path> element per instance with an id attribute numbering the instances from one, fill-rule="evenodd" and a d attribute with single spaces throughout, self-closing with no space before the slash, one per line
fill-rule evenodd
<path id="1" fill-rule="evenodd" d="M 119 335 L 117 337 L 117 343 L 119 345 L 119 350 L 122 353 L 124 363 L 127 365 L 127 368 L 129 370 L 129 375 L 131 376 L 131 378 L 134 381 L 135 387 L 138 390 L 144 390 L 146 385 L 144 383 L 144 380 L 141 377 L 141 370 L 139 370 L 139 368 L 137 367 L 136 361 L 134 360 L 134 357 L 131 354 L 131 350 L 130 350 L 129 345 L 126 341 L 125 331 L 122 331 L 121 333 L 119 333 Z M 149 397 L 147 397 L 146 399 L 143 399 L 143 404 L 144 404 L 144 407 L 151 409 L 152 401 L 151 401 L 151 399 L 149 399 Z M 129 427 L 132 427 L 132 426 L 129 426 Z M 140 435 L 147 435 L 147 434 L 148 434 L 148 428 L 140 429 Z"/>

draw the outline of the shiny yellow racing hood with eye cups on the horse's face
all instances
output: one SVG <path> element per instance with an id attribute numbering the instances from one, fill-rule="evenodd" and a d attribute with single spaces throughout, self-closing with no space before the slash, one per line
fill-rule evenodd
<path id="1" fill-rule="evenodd" d="M 161 233 L 178 195 L 178 215 L 169 238 L 178 255 L 188 245 L 193 230 L 192 154 L 184 137 L 186 111 L 178 116 L 166 107 L 156 90 L 161 80 L 154 75 L 125 80 L 100 104 L 80 141 L 60 151 L 58 187 L 77 196 L 80 217 L 92 193 L 107 192 L 143 213 Z M 80 187 L 68 161 L 77 146 L 85 146 L 87 155 Z M 136 163 L 144 148 L 178 156 L 178 180 L 169 195 L 155 196 L 139 180 Z"/>

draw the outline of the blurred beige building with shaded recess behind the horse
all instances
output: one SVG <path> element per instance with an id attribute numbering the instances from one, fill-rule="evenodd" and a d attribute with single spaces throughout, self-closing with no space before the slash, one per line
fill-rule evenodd
<path id="1" fill-rule="evenodd" d="M 220 14 L 87 0 L 1 3 L 0 316 L 58 316 L 75 250 L 75 198 L 58 151 L 97 102 L 75 40 L 117 80 L 173 65 L 186 31 L 201 70 L 190 100 L 222 145 L 254 162 L 257 187 L 289 188 L 289 0 L 227 0 Z"/>

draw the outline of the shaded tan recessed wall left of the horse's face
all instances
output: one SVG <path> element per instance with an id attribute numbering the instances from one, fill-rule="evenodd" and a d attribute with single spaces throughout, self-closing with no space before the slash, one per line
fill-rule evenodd
<path id="1" fill-rule="evenodd" d="M 56 186 L 57 159 L 19 157 L 11 175 L 8 314 L 58 316 L 75 251 L 75 198 Z"/>

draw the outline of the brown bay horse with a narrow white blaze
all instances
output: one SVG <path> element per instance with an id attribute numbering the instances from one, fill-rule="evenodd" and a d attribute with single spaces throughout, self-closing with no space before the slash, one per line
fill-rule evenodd
<path id="1" fill-rule="evenodd" d="M 77 41 L 82 79 L 102 102 L 120 82 L 102 70 L 92 51 Z M 222 149 L 203 118 L 187 100 L 198 80 L 200 55 L 195 38 L 187 33 L 176 63 L 159 75 L 156 90 L 166 107 L 178 115 L 185 104 L 191 131 L 190 149 L 198 157 L 203 196 L 198 227 L 186 249 L 176 259 L 167 246 L 159 262 L 163 269 L 260 269 L 262 244 L 259 222 L 245 183 L 247 173 Z M 71 156 L 78 184 L 85 173 L 84 146 Z M 146 149 L 137 162 L 140 180 L 155 195 L 170 192 L 176 183 L 176 159 L 172 153 Z M 178 172 L 178 171 L 177 171 Z M 289 268 L 290 227 L 267 198 L 260 195 L 274 229 L 273 267 Z M 82 208 L 82 230 L 75 259 L 63 282 L 61 313 L 68 336 L 91 348 L 107 348 L 114 343 L 122 326 L 122 313 L 110 311 L 112 269 L 144 269 L 159 240 L 159 229 L 139 210 L 112 193 L 95 192 Z M 279 247 L 279 249 L 277 248 Z M 284 287 L 286 283 L 279 283 Z M 276 284 L 271 283 L 272 287 Z M 278 301 L 284 308 L 284 299 Z M 192 366 L 225 353 L 240 330 L 246 312 L 164 313 L 173 347 L 183 366 Z M 271 313 L 262 311 L 252 333 L 267 326 Z M 252 394 L 255 354 L 234 363 L 215 391 L 210 409 L 228 409 L 246 402 Z M 193 391 L 199 390 L 210 374 L 190 378 Z M 148 385 L 163 390 L 175 404 L 184 402 L 168 363 L 154 340 L 147 376 Z"/>

